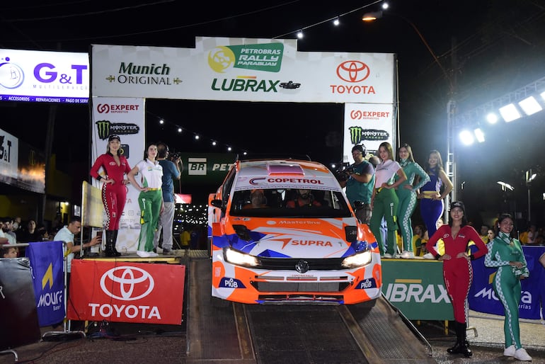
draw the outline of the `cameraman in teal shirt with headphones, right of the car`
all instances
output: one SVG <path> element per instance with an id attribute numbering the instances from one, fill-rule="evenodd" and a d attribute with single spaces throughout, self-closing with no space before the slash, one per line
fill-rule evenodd
<path id="1" fill-rule="evenodd" d="M 371 196 L 374 186 L 374 168 L 372 164 L 365 161 L 365 147 L 355 145 L 352 147 L 352 158 L 354 164 L 351 164 L 344 171 L 337 174 L 337 179 L 341 187 L 346 187 L 346 197 L 350 201 L 352 208 L 355 208 L 354 202 L 359 200 L 365 203 L 357 215 L 360 221 L 369 223 L 371 219 Z"/>

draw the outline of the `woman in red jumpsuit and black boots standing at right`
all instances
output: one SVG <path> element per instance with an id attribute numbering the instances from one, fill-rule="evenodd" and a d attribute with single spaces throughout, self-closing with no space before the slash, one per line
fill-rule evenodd
<path id="1" fill-rule="evenodd" d="M 430 237 L 428 251 L 443 262 L 443 278 L 447 293 L 454 309 L 454 330 L 457 340 L 452 348 L 447 349 L 449 354 L 463 354 L 466 358 L 473 355 L 466 339 L 467 329 L 467 296 L 473 281 L 473 267 L 471 260 L 484 256 L 488 249 L 478 232 L 467 224 L 466 209 L 461 201 L 450 204 L 449 224 L 442 225 Z M 442 240 L 444 252 L 437 250 L 435 243 Z M 475 247 L 471 249 L 471 256 L 467 253 L 468 245 L 473 241 Z"/>

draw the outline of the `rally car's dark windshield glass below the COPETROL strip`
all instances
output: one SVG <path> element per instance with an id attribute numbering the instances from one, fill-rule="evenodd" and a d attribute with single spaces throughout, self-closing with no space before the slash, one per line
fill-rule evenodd
<path id="1" fill-rule="evenodd" d="M 332 190 L 238 190 L 231 200 L 232 216 L 350 217 L 342 192 Z"/>

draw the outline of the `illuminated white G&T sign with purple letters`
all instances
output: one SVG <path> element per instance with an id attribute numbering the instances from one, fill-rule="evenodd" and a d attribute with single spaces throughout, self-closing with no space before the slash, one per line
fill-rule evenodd
<path id="1" fill-rule="evenodd" d="M 87 53 L 0 49 L 0 101 L 87 103 Z"/>

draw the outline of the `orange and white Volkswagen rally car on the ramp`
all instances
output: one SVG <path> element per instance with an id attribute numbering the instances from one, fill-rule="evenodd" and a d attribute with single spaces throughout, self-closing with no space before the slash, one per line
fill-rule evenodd
<path id="1" fill-rule="evenodd" d="M 377 241 L 316 161 L 237 160 L 208 220 L 213 297 L 343 305 L 381 294 Z"/>

